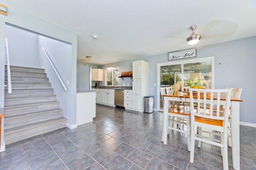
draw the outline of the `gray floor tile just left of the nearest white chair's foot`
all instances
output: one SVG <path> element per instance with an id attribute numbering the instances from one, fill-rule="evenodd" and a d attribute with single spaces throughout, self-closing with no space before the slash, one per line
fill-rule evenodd
<path id="1" fill-rule="evenodd" d="M 188 166 L 188 158 L 176 152 L 168 151 L 166 156 L 164 157 L 164 161 L 177 166 L 181 169 L 186 169 Z"/>

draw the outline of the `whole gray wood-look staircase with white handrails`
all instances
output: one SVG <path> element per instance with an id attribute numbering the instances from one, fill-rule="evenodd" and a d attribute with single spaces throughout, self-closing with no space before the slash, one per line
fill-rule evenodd
<path id="1" fill-rule="evenodd" d="M 10 66 L 10 70 L 12 93 L 8 86 L 4 90 L 5 144 L 66 127 L 67 119 L 44 69 Z"/>

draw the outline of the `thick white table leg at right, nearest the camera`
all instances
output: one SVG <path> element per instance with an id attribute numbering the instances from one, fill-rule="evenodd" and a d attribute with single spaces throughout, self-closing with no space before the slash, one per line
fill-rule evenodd
<path id="1" fill-rule="evenodd" d="M 240 170 L 239 102 L 232 102 L 232 158 L 235 170 Z"/>

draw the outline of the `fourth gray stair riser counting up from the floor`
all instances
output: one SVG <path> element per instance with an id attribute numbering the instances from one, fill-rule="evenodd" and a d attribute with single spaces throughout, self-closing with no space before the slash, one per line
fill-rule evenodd
<path id="1" fill-rule="evenodd" d="M 20 104 L 33 104 L 40 102 L 54 102 L 56 96 L 38 96 L 27 98 L 6 98 L 4 99 L 4 106 L 20 105 Z"/>

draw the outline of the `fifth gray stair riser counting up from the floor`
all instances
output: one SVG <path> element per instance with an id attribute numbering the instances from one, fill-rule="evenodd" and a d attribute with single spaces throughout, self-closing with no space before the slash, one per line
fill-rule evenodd
<path id="1" fill-rule="evenodd" d="M 54 94 L 53 89 L 36 89 L 36 90 L 12 90 L 12 93 L 8 93 L 8 90 L 4 90 L 4 97 L 14 96 L 37 96 Z"/>

